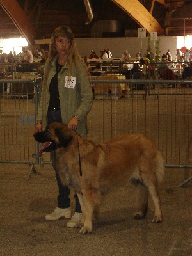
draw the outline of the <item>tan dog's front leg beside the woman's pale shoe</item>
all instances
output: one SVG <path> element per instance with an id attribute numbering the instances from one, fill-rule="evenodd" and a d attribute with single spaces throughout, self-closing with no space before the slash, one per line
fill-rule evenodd
<path id="1" fill-rule="evenodd" d="M 82 190 L 84 199 L 84 226 L 80 233 L 86 234 L 92 232 L 93 214 L 100 207 L 102 201 L 102 194 L 99 189 L 90 188 Z"/>

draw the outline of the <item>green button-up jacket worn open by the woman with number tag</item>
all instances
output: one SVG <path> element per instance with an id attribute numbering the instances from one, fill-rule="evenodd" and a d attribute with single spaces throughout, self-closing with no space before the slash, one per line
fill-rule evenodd
<path id="1" fill-rule="evenodd" d="M 43 129 L 45 129 L 47 125 L 47 110 L 50 99 L 49 84 L 56 73 L 56 58 L 52 60 L 49 67 L 45 64 L 44 74 L 46 74 L 47 68 L 49 68 L 49 72 L 48 75 L 44 77 L 37 116 L 37 120 L 42 120 Z M 62 120 L 64 124 L 68 124 L 72 116 L 77 116 L 77 118 L 79 118 L 77 133 L 84 137 L 87 134 L 86 116 L 92 108 L 93 103 L 92 88 L 83 61 L 79 60 L 76 67 L 74 63 L 72 64 L 71 76 L 76 77 L 74 88 L 67 88 L 65 86 L 67 72 L 68 64 L 65 63 L 58 73 L 58 90 Z"/>

